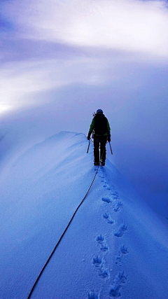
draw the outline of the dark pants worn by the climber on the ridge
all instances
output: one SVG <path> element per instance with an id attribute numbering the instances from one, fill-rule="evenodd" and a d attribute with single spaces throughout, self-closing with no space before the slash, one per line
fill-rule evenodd
<path id="1" fill-rule="evenodd" d="M 94 137 L 94 162 L 99 162 L 102 159 L 106 160 L 106 137 Z M 99 151 L 100 148 L 100 151 Z"/>

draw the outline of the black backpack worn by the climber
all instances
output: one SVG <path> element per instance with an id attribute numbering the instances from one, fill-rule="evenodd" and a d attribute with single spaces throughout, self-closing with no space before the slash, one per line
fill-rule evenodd
<path id="1" fill-rule="evenodd" d="M 98 113 L 94 116 L 94 134 L 104 135 L 106 132 L 108 132 L 106 116 L 102 113 Z"/>

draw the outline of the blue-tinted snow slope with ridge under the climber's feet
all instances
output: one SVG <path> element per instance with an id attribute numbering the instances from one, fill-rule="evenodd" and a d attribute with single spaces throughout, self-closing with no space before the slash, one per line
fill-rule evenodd
<path id="1" fill-rule="evenodd" d="M 1 140 L 5 142 L 6 137 Z M 84 134 L 60 132 L 0 173 L 0 298 L 27 298 L 97 167 Z M 3 157 L 2 157 L 3 158 Z M 167 228 L 107 160 L 31 298 L 168 298 Z"/>

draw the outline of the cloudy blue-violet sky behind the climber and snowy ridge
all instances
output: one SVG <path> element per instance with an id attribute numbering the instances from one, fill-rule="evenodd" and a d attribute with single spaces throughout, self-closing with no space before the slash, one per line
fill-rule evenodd
<path id="1" fill-rule="evenodd" d="M 103 109 L 111 162 L 160 204 L 168 197 L 167 27 L 167 1 L 1 1 L 1 125 L 87 134 Z"/>

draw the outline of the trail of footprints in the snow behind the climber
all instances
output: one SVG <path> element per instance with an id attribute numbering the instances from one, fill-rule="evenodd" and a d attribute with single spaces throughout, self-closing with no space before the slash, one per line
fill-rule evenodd
<path id="1" fill-rule="evenodd" d="M 118 191 L 115 190 L 115 187 L 113 185 L 110 186 L 108 179 L 106 179 L 106 174 L 104 174 L 104 169 L 102 168 L 99 169 L 99 178 L 104 190 L 104 196 L 102 197 L 102 220 L 104 223 L 106 223 L 106 225 L 108 225 L 108 228 L 111 227 L 113 233 L 113 235 L 110 235 L 111 237 L 117 238 L 118 240 L 123 239 L 123 235 L 125 235 L 125 232 L 127 232 L 127 224 L 124 222 L 118 223 L 118 215 L 120 214 L 120 211 L 124 209 L 123 202 L 120 200 L 120 196 L 118 195 Z M 92 265 L 97 271 L 100 279 L 104 281 L 109 280 L 109 290 L 107 288 L 109 297 L 120 298 L 122 295 L 123 286 L 127 284 L 127 274 L 125 274 L 124 271 L 118 271 L 116 278 L 111 281 L 112 270 L 110 265 L 108 267 L 106 262 L 106 255 L 110 253 L 109 246 L 106 243 L 106 238 L 104 235 L 99 234 L 96 237 L 96 242 L 99 246 L 99 253 L 92 256 Z M 122 266 L 123 260 L 128 253 L 129 251 L 127 246 L 125 244 L 120 244 L 118 253 L 116 254 L 116 267 Z M 88 293 L 88 299 L 98 299 L 99 295 L 94 291 L 90 291 Z"/>

